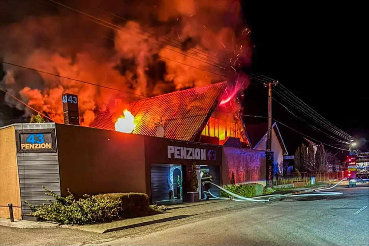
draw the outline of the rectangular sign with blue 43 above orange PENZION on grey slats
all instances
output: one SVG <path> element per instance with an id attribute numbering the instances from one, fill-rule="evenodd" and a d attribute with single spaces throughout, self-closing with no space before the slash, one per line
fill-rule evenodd
<path id="1" fill-rule="evenodd" d="M 18 153 L 56 152 L 54 129 L 17 131 Z"/>

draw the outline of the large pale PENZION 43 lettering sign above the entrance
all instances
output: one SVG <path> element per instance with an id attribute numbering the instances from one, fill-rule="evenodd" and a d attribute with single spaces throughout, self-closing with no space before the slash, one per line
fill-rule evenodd
<path id="1" fill-rule="evenodd" d="M 186 160 L 217 160 L 217 152 L 215 150 L 187 148 L 168 145 L 168 158 L 186 159 Z"/>

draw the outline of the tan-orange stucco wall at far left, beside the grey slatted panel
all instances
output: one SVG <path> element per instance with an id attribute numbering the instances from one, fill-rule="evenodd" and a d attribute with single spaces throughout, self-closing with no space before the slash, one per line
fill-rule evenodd
<path id="1" fill-rule="evenodd" d="M 8 203 L 15 219 L 21 219 L 21 198 L 14 126 L 0 129 L 0 218 L 9 218 Z"/>

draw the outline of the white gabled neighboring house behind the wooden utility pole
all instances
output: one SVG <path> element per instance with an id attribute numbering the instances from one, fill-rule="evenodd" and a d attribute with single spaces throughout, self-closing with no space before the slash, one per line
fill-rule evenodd
<path id="1" fill-rule="evenodd" d="M 253 149 L 266 150 L 266 139 L 268 135 L 268 125 L 266 123 L 255 125 L 246 124 L 246 131 Z M 283 162 L 283 156 L 288 156 L 286 146 L 284 145 L 276 122 L 272 125 L 272 151 L 274 152 L 275 167 L 277 163 Z"/>

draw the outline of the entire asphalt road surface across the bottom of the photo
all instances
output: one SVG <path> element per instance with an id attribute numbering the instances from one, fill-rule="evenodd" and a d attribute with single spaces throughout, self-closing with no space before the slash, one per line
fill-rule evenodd
<path id="1" fill-rule="evenodd" d="M 369 245 L 368 185 L 335 190 L 105 234 L 0 226 L 0 245 Z"/>

